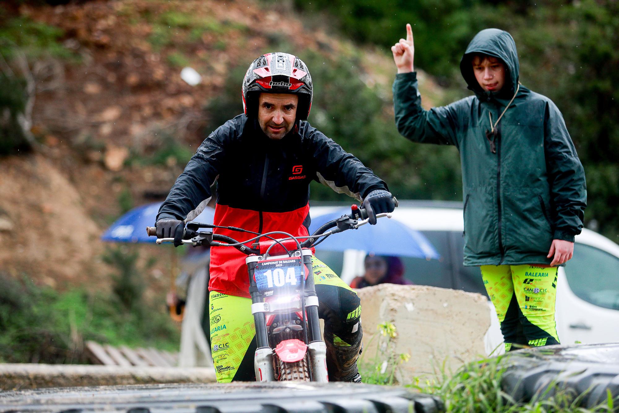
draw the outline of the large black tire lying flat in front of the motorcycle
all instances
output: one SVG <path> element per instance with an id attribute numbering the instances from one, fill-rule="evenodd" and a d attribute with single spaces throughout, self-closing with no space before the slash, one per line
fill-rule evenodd
<path id="1" fill-rule="evenodd" d="M 443 412 L 438 397 L 354 383 L 100 386 L 0 392 L 0 412 Z"/>

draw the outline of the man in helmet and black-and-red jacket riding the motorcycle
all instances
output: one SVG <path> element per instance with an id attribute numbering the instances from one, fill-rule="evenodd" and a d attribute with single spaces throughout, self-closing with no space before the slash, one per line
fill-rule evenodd
<path id="1" fill-rule="evenodd" d="M 300 58 L 288 53 L 259 56 L 245 74 L 242 92 L 245 113 L 211 133 L 176 179 L 157 215 L 158 238 L 182 231 L 209 202 L 215 182 L 214 224 L 257 233 L 308 235 L 311 180 L 363 200 L 371 224 L 376 214 L 394 210 L 387 185 L 306 122 L 313 85 Z M 222 228 L 214 233 L 236 239 L 240 234 Z M 360 300 L 316 257 L 312 264 L 318 312 L 325 319 L 329 378 L 360 382 Z M 212 247 L 209 291 L 217 381 L 254 380 L 256 338 L 245 255 Z"/>

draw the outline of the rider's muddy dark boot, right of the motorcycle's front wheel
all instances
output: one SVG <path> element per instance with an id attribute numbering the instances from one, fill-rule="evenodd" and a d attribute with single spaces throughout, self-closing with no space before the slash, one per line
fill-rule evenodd
<path id="1" fill-rule="evenodd" d="M 329 381 L 353 381 L 361 383 L 361 375 L 357 370 L 357 358 L 361 354 L 361 326 L 354 333 L 337 334 L 324 329 L 324 341 L 327 345 L 327 371 Z"/>

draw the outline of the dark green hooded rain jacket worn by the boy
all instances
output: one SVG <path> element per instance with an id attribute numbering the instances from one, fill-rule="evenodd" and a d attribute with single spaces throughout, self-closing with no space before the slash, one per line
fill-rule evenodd
<path id="1" fill-rule="evenodd" d="M 471 64 L 475 53 L 504 62 L 508 73 L 500 91 L 479 86 Z M 473 38 L 460 63 L 475 95 L 426 111 L 415 72 L 397 74 L 393 85 L 402 135 L 460 151 L 464 265 L 547 265 L 552 240 L 573 242 L 582 229 L 587 200 L 582 164 L 552 100 L 519 86 L 517 56 L 508 32 L 486 29 Z M 496 122 L 516 90 L 491 142 L 489 114 Z"/>

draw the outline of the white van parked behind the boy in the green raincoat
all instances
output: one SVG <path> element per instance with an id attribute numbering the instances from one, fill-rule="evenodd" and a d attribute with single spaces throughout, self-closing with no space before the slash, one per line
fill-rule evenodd
<path id="1" fill-rule="evenodd" d="M 311 216 L 329 213 L 342 204 L 312 206 Z M 386 218 L 382 218 L 386 219 Z M 487 296 L 478 267 L 462 265 L 464 220 L 461 202 L 400 201 L 393 218 L 421 231 L 441 255 L 439 260 L 402 257 L 405 277 L 417 285 L 480 293 Z M 336 273 L 350 283 L 361 275 L 356 254 L 350 270 L 350 253 L 317 251 Z M 355 254 L 352 254 L 355 255 Z M 345 268 L 343 263 L 347 262 Z M 498 318 L 488 300 L 491 326 L 486 350 L 500 349 L 503 342 Z M 576 236 L 574 257 L 560 267 L 556 295 L 556 328 L 562 344 L 619 342 L 619 245 L 589 229 Z"/>

